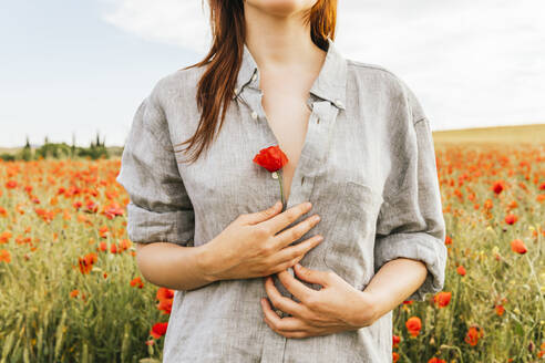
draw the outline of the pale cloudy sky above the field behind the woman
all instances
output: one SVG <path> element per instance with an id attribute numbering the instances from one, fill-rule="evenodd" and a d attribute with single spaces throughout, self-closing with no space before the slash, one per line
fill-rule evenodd
<path id="1" fill-rule="evenodd" d="M 202 0 L 0 2 L 0 146 L 97 132 L 122 145 L 155 82 L 209 45 Z M 544 13 L 539 0 L 340 0 L 336 43 L 404 80 L 433 129 L 545 123 Z"/>

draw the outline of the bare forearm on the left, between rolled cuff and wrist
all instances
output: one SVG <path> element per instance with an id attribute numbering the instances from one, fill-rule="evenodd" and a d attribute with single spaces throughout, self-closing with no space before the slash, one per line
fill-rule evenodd
<path id="1" fill-rule="evenodd" d="M 205 253 L 206 245 L 137 243 L 136 263 L 143 277 L 158 287 L 194 290 L 214 282 L 207 273 Z"/>

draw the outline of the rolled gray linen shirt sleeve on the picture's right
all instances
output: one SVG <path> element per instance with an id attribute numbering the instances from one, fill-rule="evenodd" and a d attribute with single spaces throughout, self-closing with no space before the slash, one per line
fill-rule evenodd
<path id="1" fill-rule="evenodd" d="M 444 287 L 445 222 L 430 122 L 407 89 L 411 121 L 397 132 L 392 164 L 377 221 L 374 272 L 395 258 L 425 263 L 425 281 L 408 300 L 424 301 Z M 403 127 L 402 127 L 403 128 Z"/>

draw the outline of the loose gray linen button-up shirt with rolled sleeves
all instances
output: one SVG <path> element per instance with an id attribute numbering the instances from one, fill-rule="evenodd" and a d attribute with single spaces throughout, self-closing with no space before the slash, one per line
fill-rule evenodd
<path id="1" fill-rule="evenodd" d="M 313 212 L 321 216 L 296 242 L 316 234 L 325 239 L 300 263 L 333 270 L 363 290 L 384 262 L 421 260 L 428 276 L 409 299 L 423 301 L 425 293 L 442 290 L 446 263 L 430 122 L 397 75 L 345 59 L 330 39 L 328 43 L 310 89 L 312 112 L 287 200 L 287 208 L 306 200 L 313 205 L 294 225 Z M 165 75 L 134 116 L 116 178 L 130 196 L 127 234 L 134 242 L 200 246 L 238 215 L 266 209 L 280 198 L 278 179 L 253 163 L 259 149 L 278 141 L 246 45 L 236 96 L 209 152 L 193 165 L 179 163 L 182 154 L 173 153 L 174 144 L 196 131 L 196 84 L 203 71 Z M 276 274 L 274 281 L 284 295 L 296 299 Z M 263 321 L 263 278 L 176 290 L 164 362 L 392 361 L 392 311 L 357 331 L 287 339 Z"/>

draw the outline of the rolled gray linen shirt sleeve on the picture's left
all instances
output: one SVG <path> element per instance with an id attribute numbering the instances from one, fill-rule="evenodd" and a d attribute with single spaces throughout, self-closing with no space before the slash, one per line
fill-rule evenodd
<path id="1" fill-rule="evenodd" d="M 134 115 L 115 180 L 130 197 L 130 240 L 182 246 L 193 240 L 193 205 L 177 168 L 165 114 L 153 92 Z"/>

